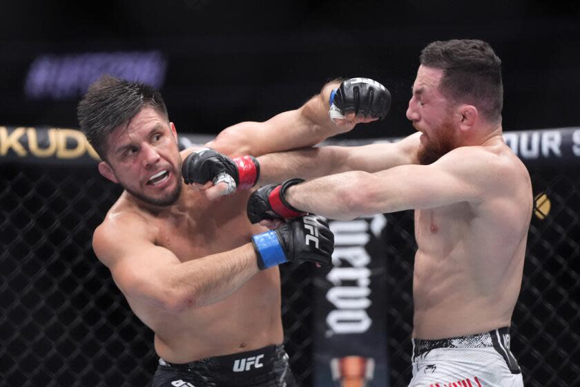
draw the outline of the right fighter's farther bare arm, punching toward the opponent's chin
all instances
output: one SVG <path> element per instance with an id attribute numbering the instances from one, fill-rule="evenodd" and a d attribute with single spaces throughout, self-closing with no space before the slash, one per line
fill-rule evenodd
<path id="1" fill-rule="evenodd" d="M 414 133 L 394 143 L 316 147 L 263 155 L 258 158 L 260 180 L 257 185 L 296 176 L 311 179 L 345 171 L 373 173 L 398 165 L 416 164 L 420 135 Z"/>

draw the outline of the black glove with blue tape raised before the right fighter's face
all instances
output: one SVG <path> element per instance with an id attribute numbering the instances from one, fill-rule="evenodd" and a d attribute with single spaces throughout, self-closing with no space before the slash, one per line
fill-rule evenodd
<path id="1" fill-rule="evenodd" d="M 383 120 L 391 108 L 391 93 L 369 78 L 343 81 L 330 95 L 330 117 L 342 119 L 348 113 Z"/>

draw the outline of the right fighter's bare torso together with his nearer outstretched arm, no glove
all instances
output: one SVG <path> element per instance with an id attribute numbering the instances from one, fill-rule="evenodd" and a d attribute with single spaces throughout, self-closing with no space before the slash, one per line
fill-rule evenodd
<path id="1" fill-rule="evenodd" d="M 290 187 L 287 201 L 329 218 L 415 209 L 414 337 L 510 325 L 532 213 L 530 178 L 501 136 L 434 164 L 346 172 Z"/>

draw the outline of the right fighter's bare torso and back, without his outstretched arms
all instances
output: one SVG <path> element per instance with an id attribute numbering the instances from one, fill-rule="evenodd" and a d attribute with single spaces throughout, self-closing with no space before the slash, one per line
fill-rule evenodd
<path id="1" fill-rule="evenodd" d="M 510 189 L 491 188 L 479 202 L 415 211 L 414 337 L 440 339 L 510 325 L 532 188 L 528 171 L 502 141 L 485 151 L 501 159 L 495 168 L 502 180 L 511 180 Z"/>

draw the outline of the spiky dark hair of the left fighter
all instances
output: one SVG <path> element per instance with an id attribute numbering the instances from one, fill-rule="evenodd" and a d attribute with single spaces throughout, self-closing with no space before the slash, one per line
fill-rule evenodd
<path id="1" fill-rule="evenodd" d="M 107 136 L 118 126 L 128 125 L 147 106 L 169 122 L 163 97 L 153 86 L 103 75 L 79 102 L 77 118 L 88 142 L 106 160 Z"/>

